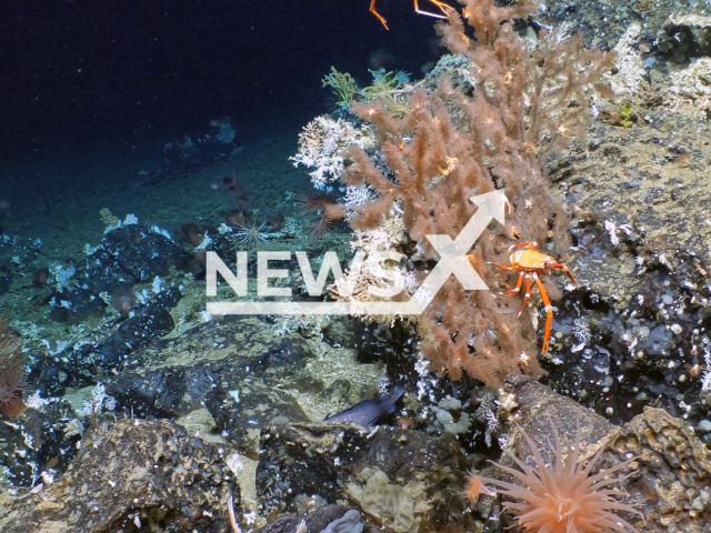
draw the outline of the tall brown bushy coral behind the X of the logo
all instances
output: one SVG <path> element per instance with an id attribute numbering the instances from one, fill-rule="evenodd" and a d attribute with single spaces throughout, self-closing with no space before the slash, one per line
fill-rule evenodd
<path id="1" fill-rule="evenodd" d="M 464 19 L 452 12 L 438 31 L 453 53 L 473 63 L 469 90 L 455 89 L 444 76 L 430 91 L 413 89 L 402 118 L 378 103 L 354 104 L 373 125 L 381 159 L 374 162 L 351 147 L 353 164 L 343 181 L 368 183 L 378 193 L 354 208 L 351 225 L 377 228 L 384 213 L 401 211 L 419 255 L 430 261 L 423 268 L 435 259 L 424 235 L 455 238 L 475 211 L 470 197 L 505 189 L 511 204 L 505 228 L 490 225 L 470 255 L 493 289 L 499 274 L 487 261 L 503 259 L 513 239 L 538 241 L 549 253 L 568 249 L 569 218 L 549 191 L 541 159 L 569 142 L 573 131 L 580 133 L 590 115 L 585 90 L 594 89 L 611 57 L 585 51 L 581 38 L 560 32 L 522 40 L 510 21 L 528 17 L 528 0 L 503 8 L 492 0 L 462 3 Z M 453 379 L 467 371 L 497 385 L 512 371 L 538 374 L 535 358 L 525 355 L 537 351 L 535 331 L 525 314 L 517 319 L 518 305 L 493 291 L 463 291 L 450 278 L 418 319 L 422 351 Z"/>

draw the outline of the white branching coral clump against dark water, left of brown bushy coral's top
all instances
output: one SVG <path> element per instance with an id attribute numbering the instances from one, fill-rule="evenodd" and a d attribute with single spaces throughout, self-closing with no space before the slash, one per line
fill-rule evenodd
<path id="1" fill-rule="evenodd" d="M 359 129 L 343 119 L 317 117 L 299 133 L 299 152 L 290 159 L 294 167 L 316 169 L 310 173 L 311 182 L 324 189 L 346 170 L 341 153 L 351 144 L 365 150 L 374 147 L 375 140 L 367 127 Z"/>

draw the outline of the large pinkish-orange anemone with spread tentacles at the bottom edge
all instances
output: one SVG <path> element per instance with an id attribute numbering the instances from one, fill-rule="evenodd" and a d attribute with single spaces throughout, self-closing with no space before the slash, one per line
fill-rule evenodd
<path id="1" fill-rule="evenodd" d="M 567 442 L 568 456 L 563 456 L 561 439 L 551 421 L 554 439 L 552 464 L 547 464 L 531 438 L 520 430 L 531 449 L 534 465 L 529 465 L 504 452 L 521 470 L 502 464 L 497 466 L 522 483 L 517 485 L 490 477 L 479 477 L 484 483 L 500 487 L 498 492 L 513 497 L 517 502 L 504 502 L 504 509 L 513 512 L 521 533 L 640 533 L 632 524 L 621 519 L 614 511 L 642 514 L 631 505 L 622 503 L 628 496 L 614 489 L 618 483 L 632 474 L 619 475 L 635 457 L 615 466 L 591 472 L 600 461 L 602 449 L 590 461 L 580 456 L 580 422 L 575 443 Z M 612 475 L 615 474 L 615 475 Z"/>

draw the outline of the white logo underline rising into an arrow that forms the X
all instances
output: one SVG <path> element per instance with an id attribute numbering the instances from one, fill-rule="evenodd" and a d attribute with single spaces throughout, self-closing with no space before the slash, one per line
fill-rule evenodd
<path id="1" fill-rule="evenodd" d="M 479 235 L 492 220 L 504 223 L 504 204 L 508 203 L 504 191 L 492 191 L 485 194 L 472 197 L 472 203 L 479 209 L 469 219 L 467 225 L 452 240 L 449 235 L 425 235 L 440 259 L 407 302 L 208 302 L 207 311 L 210 314 L 392 314 L 411 315 L 422 314 L 434 295 L 442 288 L 448 278 L 453 274 L 467 291 L 484 291 L 489 288 L 479 273 L 469 262 L 467 254 L 474 245 Z M 243 252 L 242 252 L 243 253 Z M 262 252 L 259 252 L 262 253 Z M 273 253 L 273 252 L 267 252 Z M 290 253 L 290 252 L 288 252 Z M 212 255 L 211 255 L 212 254 Z M 226 279 L 236 281 L 229 269 L 217 258 L 217 254 L 208 252 L 208 280 L 216 280 L 217 273 L 222 273 Z M 211 264 L 212 263 L 212 264 Z M 227 272 L 226 272 L 227 269 Z M 340 272 L 336 273 L 338 275 Z M 342 274 L 341 274 L 342 275 Z M 246 281 L 242 280 L 242 286 Z M 228 279 L 233 289 L 237 286 Z M 212 289 L 212 291 L 211 291 Z M 208 294 L 214 295 L 214 288 L 208 286 Z"/>

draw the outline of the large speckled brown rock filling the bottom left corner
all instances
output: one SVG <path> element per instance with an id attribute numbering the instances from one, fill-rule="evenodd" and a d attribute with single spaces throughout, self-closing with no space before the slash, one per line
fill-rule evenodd
<path id="1" fill-rule="evenodd" d="M 0 495 L 3 533 L 231 532 L 239 487 L 221 453 L 168 421 L 102 424 L 54 483 Z M 232 486 L 231 486 L 232 485 Z M 3 501 L 4 500 L 4 501 Z M 238 516 L 241 513 L 238 512 Z"/>

